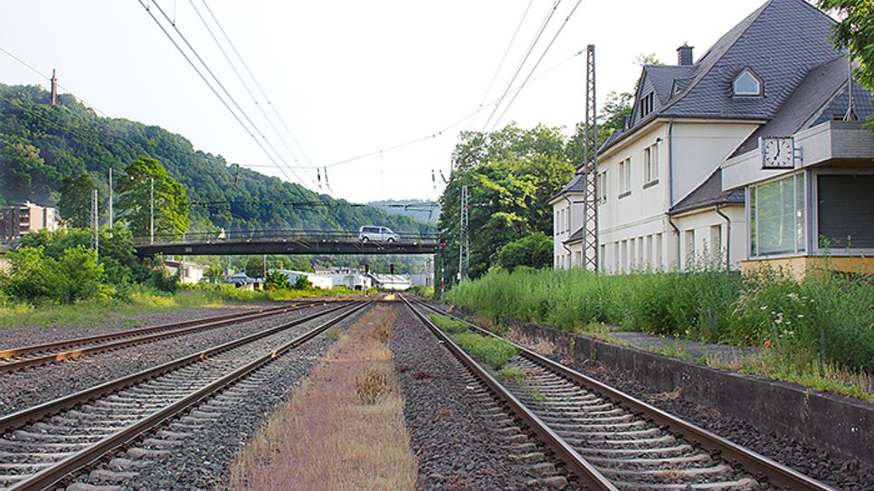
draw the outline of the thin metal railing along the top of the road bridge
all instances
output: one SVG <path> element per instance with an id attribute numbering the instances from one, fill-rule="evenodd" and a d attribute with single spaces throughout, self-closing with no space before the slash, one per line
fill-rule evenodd
<path id="1" fill-rule="evenodd" d="M 436 233 L 394 232 L 399 243 L 432 245 L 440 238 Z M 135 237 L 134 245 L 203 244 L 217 242 L 356 242 L 357 231 L 316 231 L 303 229 L 290 230 L 252 230 L 252 231 L 204 231 L 186 233 L 182 237 L 170 234 L 156 234 L 154 238 Z"/>

